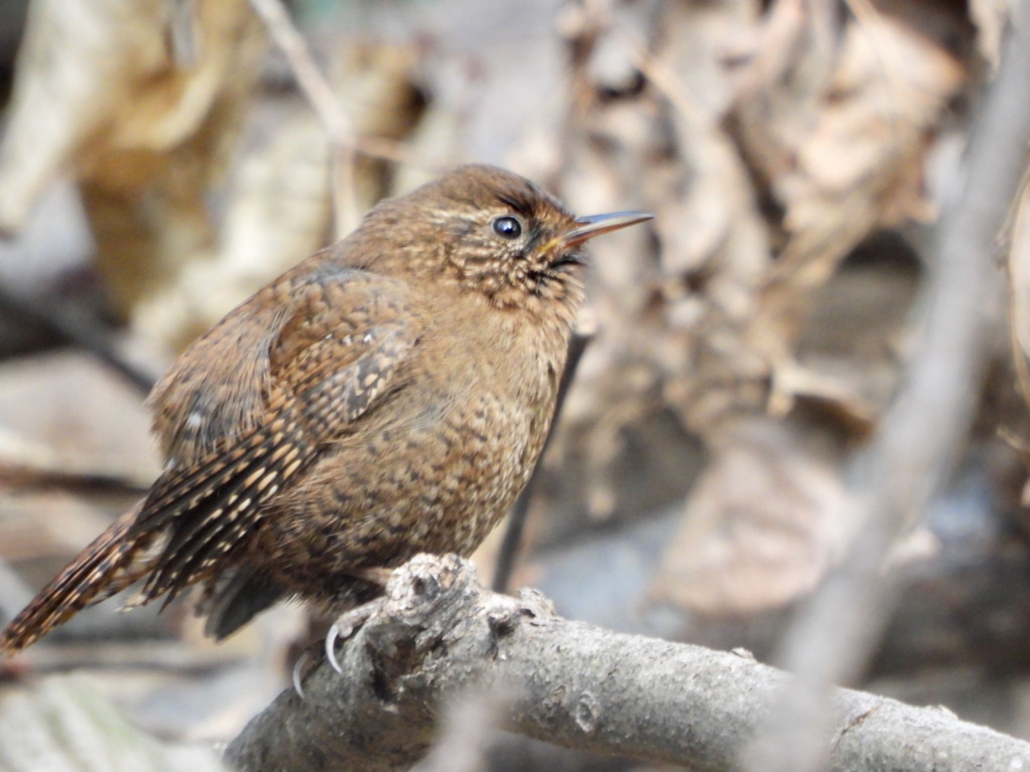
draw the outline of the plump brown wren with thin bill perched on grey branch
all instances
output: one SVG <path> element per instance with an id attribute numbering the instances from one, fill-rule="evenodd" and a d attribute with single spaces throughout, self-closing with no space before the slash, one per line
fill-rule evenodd
<path id="1" fill-rule="evenodd" d="M 0 656 L 133 587 L 129 607 L 197 586 L 221 639 L 279 600 L 368 605 L 419 553 L 469 556 L 543 448 L 585 242 L 651 217 L 577 217 L 481 164 L 380 202 L 160 379 L 162 473 L 0 633 Z"/>

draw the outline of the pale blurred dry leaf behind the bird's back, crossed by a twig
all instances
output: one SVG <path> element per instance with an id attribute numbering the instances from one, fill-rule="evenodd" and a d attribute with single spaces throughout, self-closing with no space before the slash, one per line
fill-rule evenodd
<path id="1" fill-rule="evenodd" d="M 401 139 L 416 124 L 421 98 L 407 46 L 341 44 L 336 91 L 362 136 Z M 159 290 L 142 297 L 133 327 L 180 350 L 238 303 L 324 246 L 332 220 L 330 146 L 318 116 L 300 97 L 262 100 L 230 181 L 217 244 L 196 255 Z M 360 211 L 387 189 L 386 165 L 359 157 Z"/>

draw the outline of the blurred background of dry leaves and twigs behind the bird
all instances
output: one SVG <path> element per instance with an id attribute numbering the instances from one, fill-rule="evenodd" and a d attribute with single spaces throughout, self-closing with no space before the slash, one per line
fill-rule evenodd
<path id="1" fill-rule="evenodd" d="M 143 398 L 193 338 L 354 212 L 475 161 L 578 212 L 656 214 L 592 246 L 509 586 L 772 658 L 859 531 L 849 480 L 923 326 L 1007 3 L 294 0 L 313 72 L 255 6 L 278 2 L 0 3 L 0 623 L 157 476 Z M 985 309 L 974 428 L 885 561 L 901 595 L 853 686 L 1030 739 L 1026 242 Z M 216 646 L 185 605 L 116 607 L 0 664 L 0 769 L 93 769 L 74 748 L 117 726 L 196 772 L 315 634 L 282 607 Z M 640 767 L 516 738 L 490 759 Z"/>

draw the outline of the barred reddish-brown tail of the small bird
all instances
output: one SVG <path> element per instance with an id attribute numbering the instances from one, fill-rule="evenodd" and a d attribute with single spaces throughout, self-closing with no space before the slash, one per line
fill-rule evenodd
<path id="1" fill-rule="evenodd" d="M 87 547 L 0 633 L 0 658 L 21 652 L 89 605 L 119 593 L 146 573 L 137 560 L 153 541 L 150 533 L 131 533 L 137 505 Z"/>

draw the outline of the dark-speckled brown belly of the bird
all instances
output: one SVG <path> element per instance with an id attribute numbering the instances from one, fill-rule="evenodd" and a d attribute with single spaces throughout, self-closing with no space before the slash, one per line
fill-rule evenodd
<path id="1" fill-rule="evenodd" d="M 551 418 L 550 402 L 489 392 L 399 413 L 337 443 L 271 514 L 260 538 L 283 555 L 287 586 L 308 594 L 314 574 L 331 586 L 420 552 L 471 554 L 525 487 Z"/>

